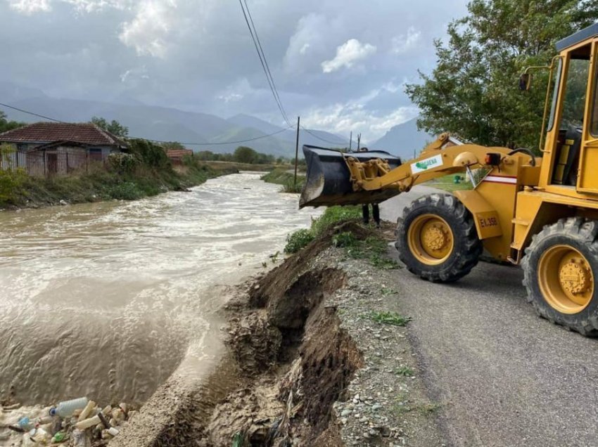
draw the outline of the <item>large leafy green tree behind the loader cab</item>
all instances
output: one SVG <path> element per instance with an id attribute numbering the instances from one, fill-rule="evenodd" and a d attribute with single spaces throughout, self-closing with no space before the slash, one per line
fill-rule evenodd
<path id="1" fill-rule="evenodd" d="M 537 147 L 547 73 L 521 92 L 525 67 L 547 65 L 554 44 L 598 19 L 598 0 L 472 0 L 469 15 L 435 41 L 437 65 L 407 85 L 418 127 L 481 145 Z"/>

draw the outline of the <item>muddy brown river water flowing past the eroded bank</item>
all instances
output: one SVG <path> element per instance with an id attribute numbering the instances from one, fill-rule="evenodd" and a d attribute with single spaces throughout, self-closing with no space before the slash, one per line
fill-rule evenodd
<path id="1" fill-rule="evenodd" d="M 1 212 L 0 396 L 141 403 L 175 371 L 201 375 L 231 286 L 318 214 L 259 178 Z"/>

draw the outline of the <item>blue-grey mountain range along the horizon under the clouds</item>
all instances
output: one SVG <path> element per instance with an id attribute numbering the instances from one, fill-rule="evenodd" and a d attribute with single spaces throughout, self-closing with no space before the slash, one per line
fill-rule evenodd
<path id="1" fill-rule="evenodd" d="M 180 141 L 193 150 L 231 153 L 238 145 L 248 145 L 261 153 L 294 157 L 295 129 L 284 129 L 250 115 L 235 115 L 229 119 L 201 112 L 146 105 L 130 98 L 112 98 L 110 102 L 69 98 L 53 98 L 39 89 L 11 82 L 0 82 L 0 103 L 35 112 L 65 122 L 87 122 L 91 117 L 117 120 L 129 127 L 129 136 L 157 141 Z M 39 117 L 2 108 L 9 119 L 37 122 Z M 405 157 L 420 149 L 429 136 L 418 132 L 414 120 L 393 127 L 370 148 L 389 150 Z M 240 141 L 246 143 L 239 143 Z M 301 145 L 343 148 L 347 138 L 315 129 L 300 131 Z M 354 143 L 355 144 L 355 143 Z M 408 157 L 411 157 L 409 155 Z"/>

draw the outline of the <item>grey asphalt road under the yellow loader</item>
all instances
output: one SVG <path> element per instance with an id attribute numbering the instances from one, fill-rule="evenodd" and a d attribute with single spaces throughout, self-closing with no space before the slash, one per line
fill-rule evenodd
<path id="1" fill-rule="evenodd" d="M 381 205 L 396 221 L 416 187 Z M 400 269 L 393 310 L 411 316 L 430 398 L 450 446 L 598 446 L 598 339 L 526 303 L 519 267 L 481 262 L 452 285 Z"/>

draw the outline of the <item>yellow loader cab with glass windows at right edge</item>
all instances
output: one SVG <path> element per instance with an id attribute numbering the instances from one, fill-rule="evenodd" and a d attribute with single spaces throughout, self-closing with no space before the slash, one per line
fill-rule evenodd
<path id="1" fill-rule="evenodd" d="M 540 188 L 598 200 L 598 23 L 559 41 Z"/>

